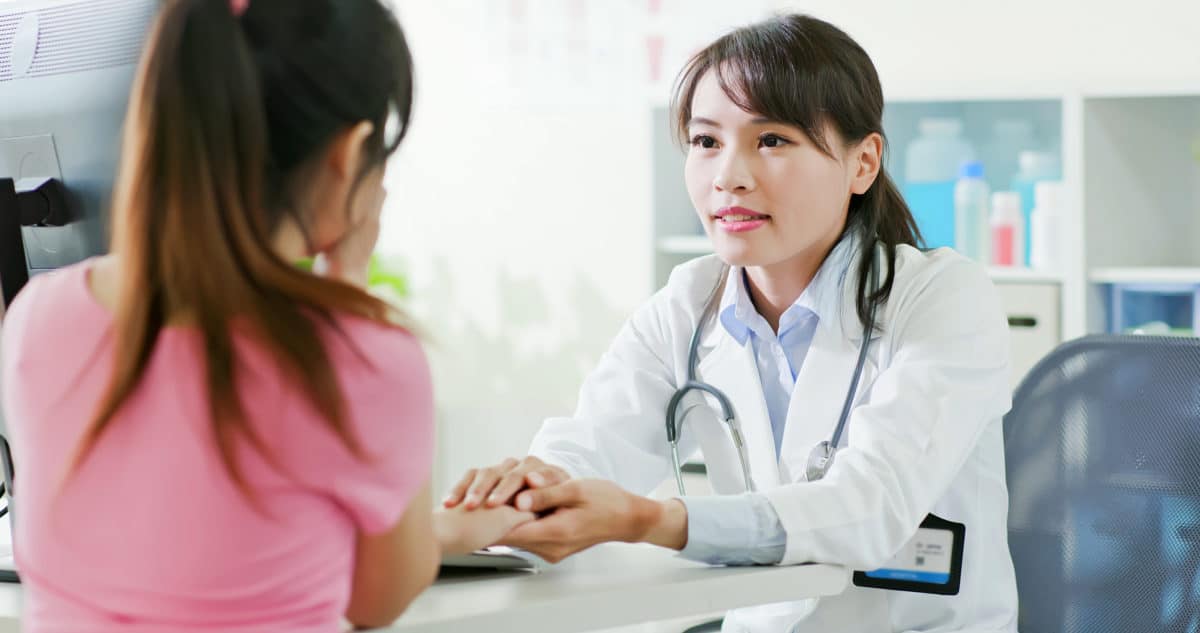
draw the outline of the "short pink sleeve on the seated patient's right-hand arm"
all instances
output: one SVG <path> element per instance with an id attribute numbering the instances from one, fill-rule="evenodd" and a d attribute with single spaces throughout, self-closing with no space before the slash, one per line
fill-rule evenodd
<path id="1" fill-rule="evenodd" d="M 361 531 L 379 533 L 400 520 L 430 480 L 433 388 L 425 354 L 413 336 L 361 322 L 347 324 L 346 332 L 359 351 L 335 342 L 330 355 L 349 429 L 366 459 L 354 456 L 331 430 L 319 429 L 299 434 L 300 442 L 293 440 L 289 453 L 299 459 L 289 466 L 343 507 Z"/>

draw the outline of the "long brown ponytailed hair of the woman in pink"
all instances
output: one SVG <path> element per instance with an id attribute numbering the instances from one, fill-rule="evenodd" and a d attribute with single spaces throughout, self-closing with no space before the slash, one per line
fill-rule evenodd
<path id="1" fill-rule="evenodd" d="M 408 44 L 379 0 L 251 0 L 236 12 L 230 0 L 161 4 L 130 96 L 113 200 L 122 278 L 112 375 L 72 470 L 137 388 L 173 315 L 185 315 L 196 333 L 214 439 L 244 492 L 236 441 L 277 460 L 245 417 L 235 325 L 367 458 L 347 427 L 322 332 L 337 332 L 335 315 L 396 327 L 403 315 L 284 261 L 271 243 L 288 218 L 308 233 L 312 218 L 298 203 L 330 143 L 373 125 L 361 183 L 396 151 L 412 103 Z"/>

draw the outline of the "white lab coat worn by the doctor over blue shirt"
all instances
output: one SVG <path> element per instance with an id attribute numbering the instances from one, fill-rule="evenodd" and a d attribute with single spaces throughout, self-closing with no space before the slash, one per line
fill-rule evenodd
<path id="1" fill-rule="evenodd" d="M 899 248 L 892 297 L 878 312 L 882 332 L 874 334 L 841 450 L 823 480 L 805 481 L 809 453 L 836 424 L 863 336 L 857 259 L 846 258 L 851 272 L 816 297 L 821 320 L 778 460 L 749 340 L 740 345 L 710 321 L 697 374 L 733 403 L 755 483 L 787 532 L 784 565 L 878 568 L 932 512 L 966 524 L 960 592 L 852 585 L 836 597 L 733 611 L 725 631 L 1013 632 L 1016 583 L 1001 426 L 1010 406 L 1008 326 L 980 266 L 949 249 Z M 587 379 L 575 415 L 546 421 L 530 452 L 574 476 L 612 480 L 638 494 L 664 482 L 671 474 L 666 404 L 685 381 L 688 344 L 721 269 L 713 255 L 676 269 Z M 690 396 L 685 406 L 701 397 Z M 737 453 L 708 404 L 686 417 L 682 454 L 703 454 L 718 494 L 742 493 Z"/>

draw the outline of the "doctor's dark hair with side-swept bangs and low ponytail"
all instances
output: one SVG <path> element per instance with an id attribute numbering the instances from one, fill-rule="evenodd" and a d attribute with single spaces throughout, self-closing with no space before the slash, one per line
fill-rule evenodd
<path id="1" fill-rule="evenodd" d="M 875 65 L 857 42 L 820 19 L 788 14 L 744 26 L 716 40 L 684 66 L 671 100 L 672 122 L 686 145 L 691 102 L 709 71 L 743 110 L 797 127 L 826 155 L 834 147 L 823 133 L 833 126 L 847 144 L 872 133 L 883 135 L 883 89 Z M 884 137 L 884 152 L 887 138 Z M 850 200 L 842 237 L 858 231 L 858 318 L 868 327 L 871 306 L 883 303 L 895 282 L 896 246 L 922 242 L 917 222 L 887 171 L 880 167 L 871 188 Z M 875 243 L 882 243 L 887 275 L 870 288 Z"/>

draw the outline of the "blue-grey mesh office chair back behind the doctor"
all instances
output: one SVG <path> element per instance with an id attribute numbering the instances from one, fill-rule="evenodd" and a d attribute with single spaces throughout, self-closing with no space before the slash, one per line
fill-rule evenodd
<path id="1" fill-rule="evenodd" d="M 1004 453 L 1021 633 L 1200 632 L 1200 339 L 1061 345 Z"/>

